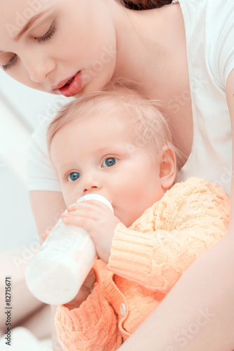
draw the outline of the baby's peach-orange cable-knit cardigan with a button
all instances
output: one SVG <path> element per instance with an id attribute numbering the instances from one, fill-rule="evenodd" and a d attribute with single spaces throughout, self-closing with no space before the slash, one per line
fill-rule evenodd
<path id="1" fill-rule="evenodd" d="M 119 223 L 108 265 L 77 308 L 58 306 L 63 350 L 114 351 L 162 301 L 181 274 L 228 229 L 229 199 L 215 184 L 177 183 L 131 227 Z"/>

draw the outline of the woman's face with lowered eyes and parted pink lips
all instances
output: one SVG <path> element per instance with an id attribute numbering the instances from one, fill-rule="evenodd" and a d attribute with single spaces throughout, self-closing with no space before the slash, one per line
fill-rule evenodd
<path id="1" fill-rule="evenodd" d="M 108 84 L 116 38 L 103 0 L 0 0 L 0 8 L 0 67 L 9 76 L 65 96 Z"/>

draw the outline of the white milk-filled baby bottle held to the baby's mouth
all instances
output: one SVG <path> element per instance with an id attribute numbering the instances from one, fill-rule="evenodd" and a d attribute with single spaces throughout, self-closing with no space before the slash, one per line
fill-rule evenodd
<path id="1" fill-rule="evenodd" d="M 98 194 L 84 195 L 77 203 L 84 200 L 101 201 L 113 211 L 110 202 Z M 27 266 L 27 286 L 44 303 L 68 303 L 77 296 L 96 258 L 89 233 L 81 227 L 65 225 L 60 218 Z"/>

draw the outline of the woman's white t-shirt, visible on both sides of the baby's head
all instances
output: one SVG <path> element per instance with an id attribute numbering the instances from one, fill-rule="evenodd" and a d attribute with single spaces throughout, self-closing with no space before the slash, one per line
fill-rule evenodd
<path id="1" fill-rule="evenodd" d="M 232 140 L 225 86 L 234 68 L 234 1 L 179 0 L 186 27 L 193 147 L 176 181 L 190 176 L 205 178 L 223 187 L 230 196 Z M 170 6 L 174 6 L 173 4 Z M 171 112 L 180 107 L 170 102 Z M 29 190 L 60 191 L 46 150 L 46 123 L 32 135 L 28 154 Z"/>

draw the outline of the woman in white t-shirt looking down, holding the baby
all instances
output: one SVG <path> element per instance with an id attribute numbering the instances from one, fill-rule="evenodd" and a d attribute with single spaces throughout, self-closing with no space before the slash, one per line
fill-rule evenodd
<path id="1" fill-rule="evenodd" d="M 22 84 L 48 93 L 75 96 L 122 77 L 162 101 L 184 155 L 178 180 L 200 176 L 222 185 L 231 197 L 230 227 L 119 350 L 229 351 L 234 347 L 234 3 L 126 3 L 129 8 L 118 0 L 0 0 L 1 66 Z M 151 9 L 134 11 L 133 3 Z M 30 199 L 39 232 L 65 209 L 43 142 L 36 133 L 30 152 L 31 160 L 37 157 L 30 161 Z"/>

